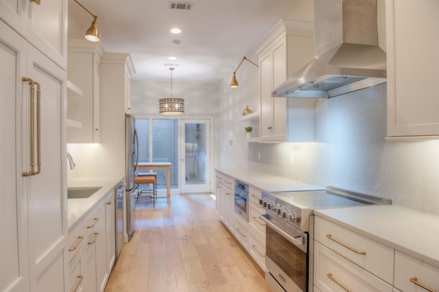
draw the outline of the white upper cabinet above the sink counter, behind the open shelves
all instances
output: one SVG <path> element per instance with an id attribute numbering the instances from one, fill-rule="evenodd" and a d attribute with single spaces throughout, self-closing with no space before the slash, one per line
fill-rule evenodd
<path id="1" fill-rule="evenodd" d="M 67 76 L 70 82 L 82 90 L 82 97 L 69 95 L 67 116 L 81 123 L 81 127 L 69 127 L 67 143 L 99 143 L 101 58 L 104 48 L 100 42 L 69 40 Z"/>

